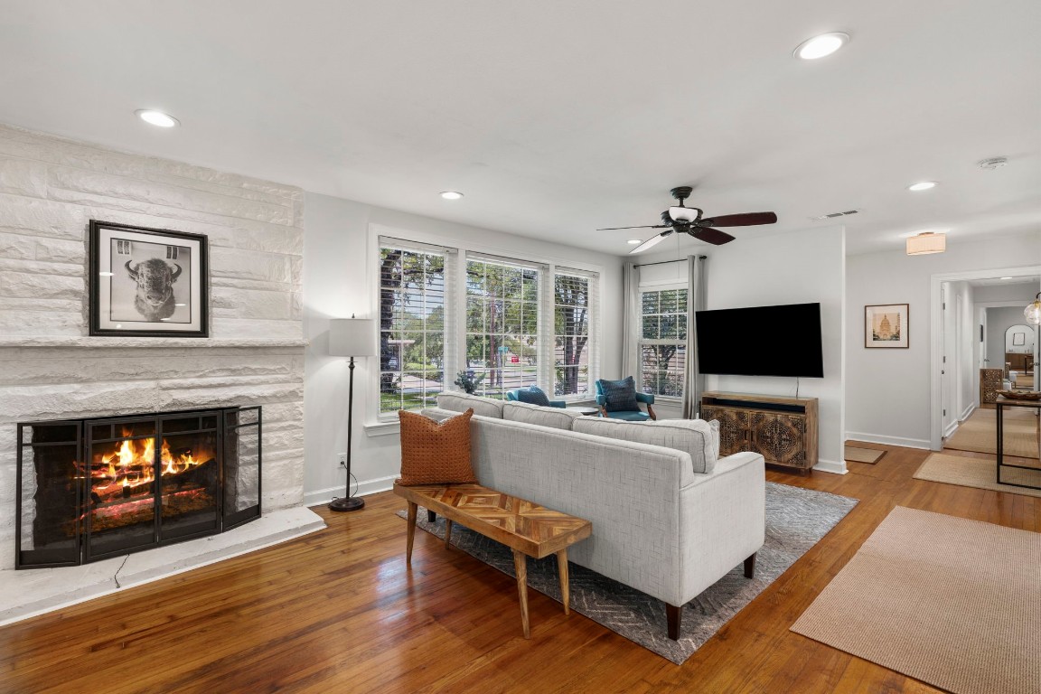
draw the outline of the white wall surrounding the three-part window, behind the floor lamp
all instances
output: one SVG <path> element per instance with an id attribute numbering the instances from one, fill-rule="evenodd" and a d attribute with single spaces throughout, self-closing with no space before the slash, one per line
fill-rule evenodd
<path id="1" fill-rule="evenodd" d="M 306 467 L 305 503 L 341 496 L 346 474 L 336 467 L 336 454 L 347 451 L 348 367 L 344 358 L 328 356 L 329 318 L 372 317 L 376 291 L 375 267 L 370 266 L 370 225 L 439 238 L 446 245 L 493 249 L 503 255 L 550 258 L 602 272 L 601 368 L 605 377 L 620 369 L 621 260 L 615 256 L 549 243 L 475 227 L 441 222 L 362 203 L 307 194 L 304 254 L 304 333 L 310 340 L 305 363 L 304 397 Z M 452 204 L 452 203 L 446 203 Z M 355 367 L 352 472 L 360 492 L 388 489 L 401 469 L 396 427 L 375 427 L 371 405 L 376 393 L 375 358 Z"/>

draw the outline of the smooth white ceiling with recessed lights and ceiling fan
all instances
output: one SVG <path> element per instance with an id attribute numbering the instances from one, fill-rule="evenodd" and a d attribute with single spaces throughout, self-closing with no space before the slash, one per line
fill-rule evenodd
<path id="1" fill-rule="evenodd" d="M 1041 229 L 1039 28 L 1037 0 L 4 0 L 0 122 L 608 253 L 684 184 L 778 213 L 738 240 L 860 209 L 849 253 L 949 248 Z"/>

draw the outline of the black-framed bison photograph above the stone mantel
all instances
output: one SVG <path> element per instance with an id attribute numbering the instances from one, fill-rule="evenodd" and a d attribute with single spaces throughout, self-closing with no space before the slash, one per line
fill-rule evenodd
<path id="1" fill-rule="evenodd" d="M 91 221 L 91 335 L 207 337 L 206 237 Z"/>

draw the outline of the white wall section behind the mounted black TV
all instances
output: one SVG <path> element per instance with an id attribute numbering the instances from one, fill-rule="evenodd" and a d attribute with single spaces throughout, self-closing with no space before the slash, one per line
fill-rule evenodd
<path id="1" fill-rule="evenodd" d="M 824 378 L 801 379 L 798 394 L 819 399 L 818 469 L 845 471 L 842 454 L 844 229 L 828 227 L 739 238 L 727 246 L 703 247 L 701 251 L 708 256 L 705 261 L 708 309 L 820 303 Z M 677 254 L 671 254 L 671 258 L 676 257 Z M 667 259 L 667 254 L 659 254 L 643 262 Z M 685 263 L 676 263 L 658 267 L 685 278 L 680 275 L 685 266 Z M 795 387 L 795 379 L 775 377 L 708 376 L 705 383 L 706 390 L 786 396 L 794 395 Z"/>

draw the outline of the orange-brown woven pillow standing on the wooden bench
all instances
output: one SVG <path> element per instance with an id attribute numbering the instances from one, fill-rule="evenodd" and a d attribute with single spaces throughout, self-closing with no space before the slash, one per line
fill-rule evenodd
<path id="1" fill-rule="evenodd" d="M 398 484 L 476 483 L 469 464 L 469 418 L 474 410 L 438 423 L 414 412 L 398 411 L 401 420 L 401 478 Z"/>

